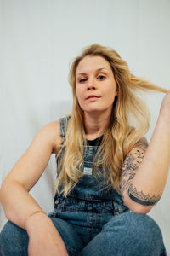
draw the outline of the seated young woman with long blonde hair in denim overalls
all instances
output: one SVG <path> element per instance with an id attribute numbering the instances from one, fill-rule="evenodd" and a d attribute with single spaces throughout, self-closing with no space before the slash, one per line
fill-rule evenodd
<path id="1" fill-rule="evenodd" d="M 71 65 L 70 116 L 45 125 L 0 190 L 8 218 L 3 255 L 166 255 L 146 215 L 160 200 L 170 164 L 170 90 L 129 72 L 115 50 L 92 44 Z M 140 91 L 166 92 L 150 143 Z M 56 154 L 54 212 L 29 191 Z"/>

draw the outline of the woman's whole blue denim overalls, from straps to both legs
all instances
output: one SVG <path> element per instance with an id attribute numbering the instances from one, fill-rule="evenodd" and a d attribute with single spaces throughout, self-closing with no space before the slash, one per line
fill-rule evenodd
<path id="1" fill-rule="evenodd" d="M 65 137 L 67 121 L 68 118 L 60 119 L 62 137 Z M 84 176 L 66 198 L 56 193 L 54 211 L 48 215 L 69 255 L 167 255 L 156 222 L 145 214 L 129 211 L 115 189 L 105 189 L 102 177 L 94 177 L 94 156 L 98 149 L 99 146 L 84 146 L 81 166 Z M 65 147 L 57 158 L 58 164 L 64 152 Z M 104 172 L 101 166 L 99 168 L 101 173 Z M 0 243 L 3 256 L 27 255 L 26 230 L 11 222 L 4 226 Z"/>

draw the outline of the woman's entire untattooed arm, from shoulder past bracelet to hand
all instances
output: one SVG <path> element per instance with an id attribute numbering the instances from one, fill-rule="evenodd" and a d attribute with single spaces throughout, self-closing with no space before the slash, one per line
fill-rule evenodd
<path id="1" fill-rule="evenodd" d="M 42 127 L 26 153 L 9 172 L 0 189 L 0 201 L 6 217 L 26 229 L 30 238 L 29 255 L 32 256 L 37 253 L 48 255 L 45 251 L 48 251 L 49 247 L 54 252 L 50 255 L 68 255 L 64 242 L 48 215 L 37 213 L 28 218 L 32 212 L 42 210 L 29 191 L 42 176 L 51 154 L 59 151 L 59 131 L 58 121 Z M 41 247 L 37 247 L 39 242 L 42 244 Z"/>

